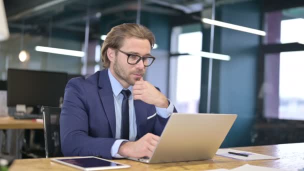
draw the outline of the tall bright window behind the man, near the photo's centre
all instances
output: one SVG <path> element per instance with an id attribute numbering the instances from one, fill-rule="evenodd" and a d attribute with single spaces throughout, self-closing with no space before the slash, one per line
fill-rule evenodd
<path id="1" fill-rule="evenodd" d="M 172 32 L 174 32 L 174 30 Z M 171 39 L 172 41 L 175 40 L 175 42 L 177 42 L 175 50 L 178 53 L 187 53 L 190 51 L 201 50 L 202 33 L 200 31 L 182 33 L 181 30 L 179 30 L 175 36 L 175 39 L 174 37 Z M 176 39 L 178 40 L 176 41 Z M 200 98 L 200 78 L 200 56 L 182 55 L 172 56 L 170 58 L 171 81 L 169 98 L 173 100 L 173 103 L 178 112 L 198 112 L 198 104 Z"/>

